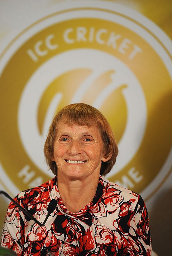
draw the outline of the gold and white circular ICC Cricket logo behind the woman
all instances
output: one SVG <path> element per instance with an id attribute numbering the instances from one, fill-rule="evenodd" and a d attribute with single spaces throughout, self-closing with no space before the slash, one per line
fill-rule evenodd
<path id="1" fill-rule="evenodd" d="M 171 56 L 144 17 L 83 3 L 25 29 L 1 56 L 4 187 L 15 194 L 51 177 L 43 145 L 52 118 L 85 102 L 106 116 L 119 145 L 108 179 L 146 198 L 171 171 Z"/>

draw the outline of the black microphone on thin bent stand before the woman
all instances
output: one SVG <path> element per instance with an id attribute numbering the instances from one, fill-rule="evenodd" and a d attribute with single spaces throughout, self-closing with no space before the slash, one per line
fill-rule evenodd
<path id="1" fill-rule="evenodd" d="M 49 202 L 49 205 L 47 207 L 47 211 L 48 211 L 48 214 L 44 220 L 43 223 L 40 223 L 37 219 L 35 219 L 31 214 L 30 212 L 28 212 L 27 210 L 25 210 L 22 206 L 20 206 L 12 197 L 10 197 L 5 191 L 2 191 L 0 190 L 0 194 L 3 194 L 5 195 L 6 197 L 8 197 L 16 206 L 19 207 L 20 210 L 22 210 L 27 216 L 29 216 L 30 219 L 34 220 L 40 227 L 43 227 L 43 225 L 45 225 L 49 215 L 54 211 L 54 209 L 56 208 L 57 206 L 57 201 L 56 199 L 52 199 L 50 202 Z"/>

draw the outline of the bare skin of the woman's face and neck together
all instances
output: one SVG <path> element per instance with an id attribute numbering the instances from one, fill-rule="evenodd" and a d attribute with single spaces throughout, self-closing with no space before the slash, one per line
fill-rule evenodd
<path id="1" fill-rule="evenodd" d="M 58 170 L 58 188 L 70 212 L 80 211 L 94 197 L 101 164 L 110 159 L 104 154 L 97 127 L 68 125 L 63 120 L 57 123 L 52 161 Z"/>

